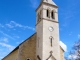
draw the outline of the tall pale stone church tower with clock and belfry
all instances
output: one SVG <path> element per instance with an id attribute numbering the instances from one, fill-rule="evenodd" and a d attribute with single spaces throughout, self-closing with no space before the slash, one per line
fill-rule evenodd
<path id="1" fill-rule="evenodd" d="M 41 0 L 36 9 L 36 60 L 60 60 L 58 7 Z"/>

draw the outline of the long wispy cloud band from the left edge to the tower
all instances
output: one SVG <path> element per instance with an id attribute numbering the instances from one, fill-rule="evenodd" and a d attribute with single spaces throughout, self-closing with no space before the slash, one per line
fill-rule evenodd
<path id="1" fill-rule="evenodd" d="M 7 28 L 12 28 L 13 30 L 16 30 L 16 27 L 19 27 L 19 28 L 22 28 L 24 30 L 25 29 L 30 29 L 30 30 L 35 31 L 35 28 L 30 27 L 30 26 L 24 26 L 22 24 L 16 23 L 15 21 L 10 21 L 10 23 L 4 24 L 4 25 L 0 24 L 0 27 L 5 28 L 5 29 L 6 29 L 6 27 Z M 10 31 L 10 30 L 8 30 L 8 31 Z"/>

